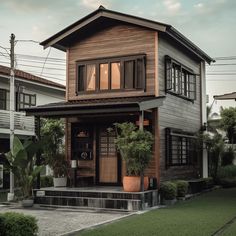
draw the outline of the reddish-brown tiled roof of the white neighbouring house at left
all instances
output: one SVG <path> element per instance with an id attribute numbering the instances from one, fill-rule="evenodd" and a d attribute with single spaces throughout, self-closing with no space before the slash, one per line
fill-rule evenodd
<path id="1" fill-rule="evenodd" d="M 10 76 L 10 67 L 0 65 L 0 75 L 1 74 Z M 17 70 L 16 69 L 15 70 L 15 77 L 21 78 L 21 79 L 24 79 L 24 80 L 30 81 L 30 82 L 36 82 L 36 83 L 39 83 L 39 84 L 45 84 L 45 85 L 49 85 L 49 86 L 52 86 L 52 87 L 65 89 L 65 86 L 62 85 L 62 84 L 55 83 L 53 81 L 41 78 L 39 76 L 32 75 L 32 74 L 27 73 L 27 72 L 22 71 L 22 70 Z"/>

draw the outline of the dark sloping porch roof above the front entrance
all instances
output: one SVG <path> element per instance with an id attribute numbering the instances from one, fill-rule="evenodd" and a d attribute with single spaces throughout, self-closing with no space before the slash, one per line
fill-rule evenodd
<path id="1" fill-rule="evenodd" d="M 165 96 L 142 96 L 89 99 L 50 103 L 25 108 L 26 115 L 41 117 L 68 117 L 73 115 L 139 112 L 162 106 Z"/>

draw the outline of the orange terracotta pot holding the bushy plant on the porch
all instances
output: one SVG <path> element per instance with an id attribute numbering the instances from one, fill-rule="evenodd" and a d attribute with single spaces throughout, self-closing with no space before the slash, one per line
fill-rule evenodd
<path id="1" fill-rule="evenodd" d="M 144 190 L 148 189 L 148 177 L 144 177 Z M 123 188 L 125 192 L 140 192 L 140 176 L 124 176 Z"/>

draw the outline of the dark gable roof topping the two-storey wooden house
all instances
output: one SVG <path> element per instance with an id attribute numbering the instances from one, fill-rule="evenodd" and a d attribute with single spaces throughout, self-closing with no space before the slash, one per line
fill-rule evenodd
<path id="1" fill-rule="evenodd" d="M 189 51 L 197 55 L 199 58 L 205 60 L 207 63 L 214 62 L 214 59 L 208 56 L 204 51 L 202 51 L 198 46 L 196 46 L 193 42 L 191 42 L 179 31 L 177 31 L 173 26 L 133 15 L 111 11 L 105 9 L 103 6 L 100 6 L 97 10 L 93 11 L 89 15 L 81 18 L 80 20 L 69 25 L 68 27 L 56 33 L 55 35 L 51 36 L 50 38 L 44 40 L 43 42 L 40 43 L 40 45 L 44 46 L 44 48 L 52 46 L 59 50 L 66 51 L 68 40 L 74 34 L 78 32 L 82 33 L 86 30 L 86 28 L 92 30 L 92 28 L 89 28 L 91 27 L 92 24 L 96 22 L 100 25 L 103 25 L 104 22 L 106 22 L 107 20 L 121 21 L 149 28 L 154 31 L 164 32 L 168 36 L 170 36 L 173 40 L 180 43 Z"/>

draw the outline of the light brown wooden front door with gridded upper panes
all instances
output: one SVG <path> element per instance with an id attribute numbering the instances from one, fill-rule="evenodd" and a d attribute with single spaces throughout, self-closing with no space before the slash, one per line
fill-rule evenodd
<path id="1" fill-rule="evenodd" d="M 99 182 L 117 184 L 119 182 L 118 157 L 115 147 L 115 131 L 107 127 L 99 131 Z"/>

